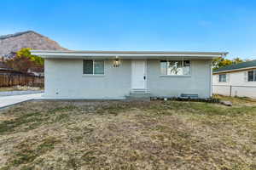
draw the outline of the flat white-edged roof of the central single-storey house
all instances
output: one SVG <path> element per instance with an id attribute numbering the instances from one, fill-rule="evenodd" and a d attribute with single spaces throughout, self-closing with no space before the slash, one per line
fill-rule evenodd
<path id="1" fill-rule="evenodd" d="M 185 52 L 185 51 L 52 51 L 31 50 L 34 55 L 43 58 L 59 59 L 159 59 L 159 58 L 183 58 L 183 59 L 214 59 L 228 54 L 227 52 Z"/>

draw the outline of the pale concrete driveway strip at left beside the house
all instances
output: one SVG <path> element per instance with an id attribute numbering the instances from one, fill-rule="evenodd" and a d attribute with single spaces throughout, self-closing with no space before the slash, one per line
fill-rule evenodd
<path id="1" fill-rule="evenodd" d="M 10 105 L 19 104 L 24 101 L 32 99 L 41 99 L 42 94 L 25 94 L 25 95 L 14 95 L 14 96 L 2 96 L 0 97 L 0 109 L 8 107 Z"/>

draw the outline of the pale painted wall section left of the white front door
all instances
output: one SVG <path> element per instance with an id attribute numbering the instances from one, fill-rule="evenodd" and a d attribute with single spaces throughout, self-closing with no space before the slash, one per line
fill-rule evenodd
<path id="1" fill-rule="evenodd" d="M 131 60 L 113 68 L 105 59 L 104 76 L 83 75 L 82 59 L 45 59 L 45 97 L 65 99 L 124 98 L 130 92 Z"/>

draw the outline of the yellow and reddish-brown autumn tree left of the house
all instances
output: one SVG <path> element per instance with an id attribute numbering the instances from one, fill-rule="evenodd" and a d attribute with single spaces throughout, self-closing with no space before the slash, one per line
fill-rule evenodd
<path id="1" fill-rule="evenodd" d="M 44 59 L 36 55 L 32 55 L 30 48 L 22 48 L 16 52 L 15 57 L 7 59 L 6 64 L 15 71 L 26 73 L 29 69 L 44 68 Z"/>

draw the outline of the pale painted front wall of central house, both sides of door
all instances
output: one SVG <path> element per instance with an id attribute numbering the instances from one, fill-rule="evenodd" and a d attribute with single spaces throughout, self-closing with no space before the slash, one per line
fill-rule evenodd
<path id="1" fill-rule="evenodd" d="M 147 83 L 152 96 L 199 94 L 211 97 L 211 60 L 191 60 L 191 76 L 160 76 L 160 59 L 148 59 Z M 45 97 L 120 99 L 131 91 L 131 59 L 105 59 L 104 76 L 84 76 L 82 59 L 45 59 Z"/>

